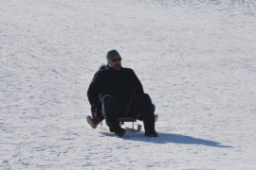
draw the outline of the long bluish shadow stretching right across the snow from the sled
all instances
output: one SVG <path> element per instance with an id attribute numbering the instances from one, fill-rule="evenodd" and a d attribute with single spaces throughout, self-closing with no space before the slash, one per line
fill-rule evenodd
<path id="1" fill-rule="evenodd" d="M 180 134 L 170 134 L 170 133 L 158 133 L 157 138 L 148 138 L 144 137 L 143 134 L 137 133 L 132 135 L 124 136 L 124 140 L 132 140 L 132 141 L 141 141 L 146 143 L 155 143 L 155 144 L 200 144 L 207 145 L 212 147 L 229 147 L 229 145 L 223 145 L 215 141 L 210 141 L 206 139 L 194 138 L 192 136 L 185 136 Z"/>

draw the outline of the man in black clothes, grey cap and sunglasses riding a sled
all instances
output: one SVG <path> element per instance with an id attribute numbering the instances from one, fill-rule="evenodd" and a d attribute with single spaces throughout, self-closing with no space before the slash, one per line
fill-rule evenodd
<path id="1" fill-rule="evenodd" d="M 135 117 L 143 121 L 145 136 L 157 137 L 154 105 L 135 72 L 121 66 L 117 50 L 109 51 L 106 59 L 106 67 L 95 74 L 87 92 L 92 112 L 88 123 L 96 128 L 105 118 L 110 131 L 122 137 L 125 129 L 120 127 L 118 118 Z"/>

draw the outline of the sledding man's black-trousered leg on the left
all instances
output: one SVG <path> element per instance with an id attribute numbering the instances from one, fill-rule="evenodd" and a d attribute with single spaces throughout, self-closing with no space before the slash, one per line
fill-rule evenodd
<path id="1" fill-rule="evenodd" d="M 106 94 L 102 97 L 102 110 L 106 119 L 106 124 L 111 131 L 119 137 L 125 134 L 125 129 L 121 128 L 118 121 L 119 106 L 115 97 Z"/>

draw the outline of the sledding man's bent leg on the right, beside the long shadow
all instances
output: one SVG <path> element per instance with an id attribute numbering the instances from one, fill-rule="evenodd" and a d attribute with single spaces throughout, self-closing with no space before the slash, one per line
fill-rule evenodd
<path id="1" fill-rule="evenodd" d="M 154 108 L 149 94 L 142 93 L 133 98 L 128 116 L 139 116 L 139 119 L 143 120 L 145 135 L 150 137 L 157 136 Z"/>

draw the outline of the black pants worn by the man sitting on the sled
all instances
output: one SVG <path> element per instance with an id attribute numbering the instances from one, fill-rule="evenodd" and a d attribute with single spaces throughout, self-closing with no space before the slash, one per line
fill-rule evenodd
<path id="1" fill-rule="evenodd" d="M 155 130 L 155 114 L 149 94 L 135 95 L 125 108 L 119 105 L 118 98 L 109 94 L 104 95 L 101 101 L 106 124 L 112 131 L 119 130 L 119 117 L 137 118 L 143 121 L 145 131 Z"/>

